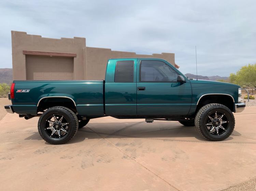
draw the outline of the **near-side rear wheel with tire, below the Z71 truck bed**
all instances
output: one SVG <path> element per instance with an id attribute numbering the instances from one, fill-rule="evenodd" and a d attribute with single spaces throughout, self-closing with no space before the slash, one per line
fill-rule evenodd
<path id="1" fill-rule="evenodd" d="M 66 107 L 51 107 L 41 115 L 38 121 L 40 136 L 51 144 L 64 144 L 70 141 L 77 129 L 77 117 Z"/>

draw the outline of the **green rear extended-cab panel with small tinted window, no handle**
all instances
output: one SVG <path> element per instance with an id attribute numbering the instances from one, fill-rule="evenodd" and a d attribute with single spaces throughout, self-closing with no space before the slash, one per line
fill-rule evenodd
<path id="1" fill-rule="evenodd" d="M 111 59 L 105 77 L 106 115 L 137 115 L 137 58 Z"/>

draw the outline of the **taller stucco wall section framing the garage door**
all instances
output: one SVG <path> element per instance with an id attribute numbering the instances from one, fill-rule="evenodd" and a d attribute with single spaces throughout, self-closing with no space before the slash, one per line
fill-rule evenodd
<path id="1" fill-rule="evenodd" d="M 12 31 L 13 80 L 26 80 L 26 56 L 23 50 L 76 53 L 74 79 L 84 80 L 85 38 L 43 38 L 26 32 Z"/>

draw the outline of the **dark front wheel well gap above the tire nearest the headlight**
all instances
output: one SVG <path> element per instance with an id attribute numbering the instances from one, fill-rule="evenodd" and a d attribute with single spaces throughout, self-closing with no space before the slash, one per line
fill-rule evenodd
<path id="1" fill-rule="evenodd" d="M 233 98 L 229 95 L 204 95 L 197 104 L 197 111 L 204 105 L 210 103 L 218 103 L 227 106 L 232 112 L 234 111 L 234 102 Z"/>

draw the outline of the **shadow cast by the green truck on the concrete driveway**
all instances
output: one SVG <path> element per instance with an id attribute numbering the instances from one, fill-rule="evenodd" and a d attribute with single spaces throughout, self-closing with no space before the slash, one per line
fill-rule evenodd
<path id="1" fill-rule="evenodd" d="M 154 122 L 155 123 L 155 122 Z M 83 128 L 78 129 L 75 137 L 66 144 L 82 142 L 85 139 L 102 139 L 102 138 L 152 138 L 166 141 L 196 141 L 209 142 L 205 140 L 195 129 L 195 127 L 185 127 L 179 123 L 170 123 L 168 126 L 156 122 L 145 124 L 145 122 L 115 122 L 115 123 L 89 123 Z M 232 135 L 240 136 L 237 131 Z M 228 137 L 225 141 L 232 140 Z M 24 140 L 42 140 L 38 132 Z M 49 144 L 45 142 L 45 144 Z"/>

